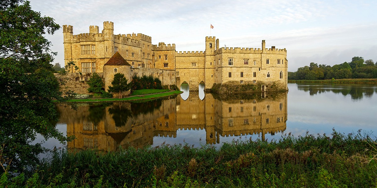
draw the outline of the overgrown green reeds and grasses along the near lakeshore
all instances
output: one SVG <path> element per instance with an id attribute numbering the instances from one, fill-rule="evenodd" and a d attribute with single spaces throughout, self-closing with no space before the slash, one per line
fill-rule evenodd
<path id="1" fill-rule="evenodd" d="M 375 187 L 376 146 L 368 135 L 285 135 L 221 148 L 187 144 L 101 153 L 55 152 L 35 173 L 1 186 L 94 187 Z M 27 180 L 26 180 L 27 179 Z"/>

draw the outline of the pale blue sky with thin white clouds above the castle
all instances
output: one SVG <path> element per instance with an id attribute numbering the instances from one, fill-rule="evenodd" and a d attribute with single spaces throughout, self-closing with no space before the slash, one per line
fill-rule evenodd
<path id="1" fill-rule="evenodd" d="M 204 51 L 205 36 L 219 47 L 287 49 L 288 71 L 310 65 L 377 61 L 376 0 L 31 0 L 31 8 L 74 35 L 114 23 L 114 34 L 143 33 L 152 44 L 176 44 L 176 51 Z M 213 29 L 210 29 L 210 25 Z M 64 64 L 63 29 L 46 35 L 53 64 Z"/>

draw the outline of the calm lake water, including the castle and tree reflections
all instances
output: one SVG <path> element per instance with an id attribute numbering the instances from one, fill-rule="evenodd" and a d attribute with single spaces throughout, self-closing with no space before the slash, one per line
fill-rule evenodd
<path id="1" fill-rule="evenodd" d="M 200 86 L 199 86 L 200 88 Z M 189 144 L 219 147 L 246 139 L 279 139 L 306 132 L 377 135 L 377 86 L 289 83 L 288 93 L 216 96 L 201 91 L 149 102 L 57 106 L 57 128 L 77 139 L 68 149 L 152 147 Z M 63 145 L 50 140 L 47 148 Z"/>

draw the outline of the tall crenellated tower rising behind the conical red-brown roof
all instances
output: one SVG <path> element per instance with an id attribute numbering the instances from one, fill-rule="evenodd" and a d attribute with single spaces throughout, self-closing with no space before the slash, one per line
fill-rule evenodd
<path id="1" fill-rule="evenodd" d="M 103 33 L 103 38 L 104 38 L 105 62 L 107 62 L 115 53 L 114 52 L 114 23 L 111 21 L 104 21 L 102 33 Z"/>

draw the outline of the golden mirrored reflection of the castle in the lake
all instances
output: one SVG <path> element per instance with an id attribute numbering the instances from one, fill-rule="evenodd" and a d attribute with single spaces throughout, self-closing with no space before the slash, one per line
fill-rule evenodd
<path id="1" fill-rule="evenodd" d="M 67 143 L 68 149 L 139 148 L 153 145 L 155 136 L 176 137 L 182 129 L 205 130 L 207 144 L 219 144 L 221 136 L 261 134 L 264 140 L 266 133 L 286 129 L 286 93 L 241 98 L 206 94 L 200 100 L 198 92 L 190 92 L 187 100 L 178 95 L 143 103 L 79 104 L 76 111 L 57 106 L 57 110 L 60 123 L 67 124 L 67 135 L 76 138 Z"/>

